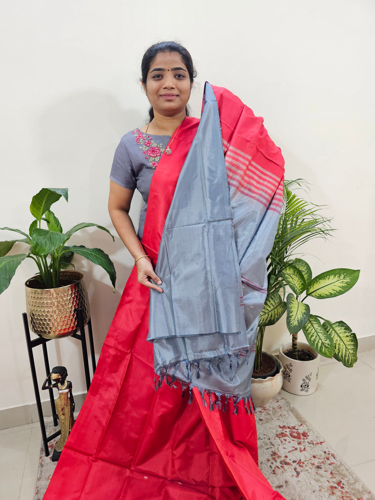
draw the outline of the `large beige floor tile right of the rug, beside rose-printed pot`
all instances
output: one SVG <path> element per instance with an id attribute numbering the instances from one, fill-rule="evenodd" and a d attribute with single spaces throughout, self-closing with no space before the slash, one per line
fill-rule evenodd
<path id="1" fill-rule="evenodd" d="M 375 459 L 375 370 L 361 359 L 320 366 L 313 394 L 282 393 L 349 466 Z"/>

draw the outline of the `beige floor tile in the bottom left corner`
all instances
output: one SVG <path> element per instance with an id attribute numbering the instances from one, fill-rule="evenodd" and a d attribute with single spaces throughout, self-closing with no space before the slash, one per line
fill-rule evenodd
<path id="1" fill-rule="evenodd" d="M 0 498 L 18 500 L 31 428 L 0 435 Z"/>

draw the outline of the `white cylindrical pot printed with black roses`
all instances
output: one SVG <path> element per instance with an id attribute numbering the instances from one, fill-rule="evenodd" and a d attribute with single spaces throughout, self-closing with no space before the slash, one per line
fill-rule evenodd
<path id="1" fill-rule="evenodd" d="M 297 342 L 297 349 L 305 349 L 315 356 L 311 361 L 297 361 L 287 357 L 284 351 L 291 347 L 291 341 L 279 347 L 278 357 L 284 368 L 282 388 L 291 394 L 306 396 L 316 390 L 317 375 L 319 372 L 319 354 L 305 342 Z"/>

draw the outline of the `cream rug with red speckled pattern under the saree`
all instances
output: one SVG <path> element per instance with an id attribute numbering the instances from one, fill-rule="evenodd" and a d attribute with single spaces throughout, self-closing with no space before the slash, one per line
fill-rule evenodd
<path id="1" fill-rule="evenodd" d="M 76 413 L 74 413 L 74 416 Z M 259 467 L 286 500 L 375 500 L 368 487 L 279 392 L 256 408 Z M 55 431 L 45 418 L 47 434 Z M 40 447 L 35 500 L 42 500 L 55 463 Z"/>

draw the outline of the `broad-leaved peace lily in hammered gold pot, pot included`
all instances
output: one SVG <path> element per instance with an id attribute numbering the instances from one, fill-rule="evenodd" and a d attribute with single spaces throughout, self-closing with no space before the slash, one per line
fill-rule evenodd
<path id="1" fill-rule="evenodd" d="M 101 225 L 81 222 L 63 232 L 60 222 L 50 210 L 51 205 L 60 197 L 67 201 L 67 188 L 42 188 L 32 197 L 30 212 L 34 217 L 28 233 L 11 227 L 0 227 L 22 234 L 21 239 L 0 241 L 0 293 L 14 276 L 18 265 L 25 258 L 31 258 L 38 273 L 25 282 L 26 312 L 32 331 L 45 338 L 71 335 L 77 329 L 76 309 L 82 309 L 84 324 L 90 317 L 87 290 L 83 274 L 75 270 L 71 263 L 74 253 L 82 255 L 91 262 L 100 265 L 108 273 L 113 290 L 116 271 L 109 256 L 100 248 L 86 248 L 83 245 L 70 245 L 70 236 L 83 227 L 96 226 L 108 234 Z M 41 224 L 46 227 L 41 227 Z M 114 241 L 114 237 L 110 234 Z M 27 253 L 7 255 L 15 242 L 28 246 Z M 66 270 L 68 267 L 74 270 Z"/>

